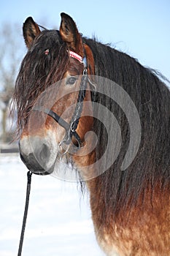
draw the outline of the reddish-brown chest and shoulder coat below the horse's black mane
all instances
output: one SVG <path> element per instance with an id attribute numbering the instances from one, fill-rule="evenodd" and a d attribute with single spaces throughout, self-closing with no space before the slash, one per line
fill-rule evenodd
<path id="1" fill-rule="evenodd" d="M 122 256 L 170 255 L 169 188 L 162 192 L 160 184 L 154 191 L 146 187 L 139 195 L 136 206 L 131 207 L 129 202 L 127 208 L 113 215 L 112 212 L 105 211 L 103 214 L 104 211 L 101 211 L 101 207 L 107 206 L 101 197 L 98 182 L 98 178 L 88 181 L 88 188 L 96 237 L 104 251 L 112 255 L 109 253 L 114 244 Z"/>

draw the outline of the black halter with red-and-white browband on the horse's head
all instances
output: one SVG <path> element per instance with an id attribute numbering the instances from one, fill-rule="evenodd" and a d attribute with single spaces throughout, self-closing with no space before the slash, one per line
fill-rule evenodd
<path id="1" fill-rule="evenodd" d="M 66 135 L 64 136 L 63 140 L 59 144 L 60 148 L 63 143 L 65 143 L 68 146 L 72 142 L 72 137 L 74 137 L 77 140 L 78 148 L 80 148 L 83 144 L 83 141 L 81 140 L 80 135 L 78 135 L 76 129 L 79 124 L 80 116 L 82 113 L 83 100 L 85 99 L 88 83 L 90 84 L 90 87 L 93 87 L 93 90 L 95 91 L 96 91 L 96 86 L 88 77 L 88 62 L 87 62 L 85 50 L 84 50 L 83 58 L 82 56 L 79 56 L 77 53 L 74 53 L 72 50 L 69 50 L 69 56 L 74 59 L 77 59 L 84 66 L 84 69 L 82 72 L 82 78 L 80 82 L 80 89 L 79 89 L 78 98 L 77 98 L 77 104 L 74 110 L 74 114 L 71 118 L 71 121 L 69 121 L 69 123 L 66 122 L 63 118 L 61 118 L 61 116 L 58 116 L 57 113 L 55 113 L 53 110 L 50 110 L 48 108 L 45 108 L 45 110 L 41 110 L 38 106 L 36 106 L 34 107 L 33 110 L 43 111 L 48 116 L 52 117 L 61 127 L 63 127 L 66 130 Z"/>

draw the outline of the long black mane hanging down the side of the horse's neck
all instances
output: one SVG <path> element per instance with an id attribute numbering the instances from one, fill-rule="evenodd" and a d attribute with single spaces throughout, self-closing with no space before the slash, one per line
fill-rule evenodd
<path id="1" fill-rule="evenodd" d="M 139 151 L 131 165 L 121 170 L 130 136 L 127 119 L 116 102 L 104 94 L 96 97 L 98 103 L 114 113 L 122 132 L 122 146 L 117 160 L 97 177 L 96 182 L 96 191 L 104 198 L 107 214 L 116 215 L 120 209 L 134 206 L 139 196 L 144 200 L 147 189 L 152 188 L 154 193 L 156 187 L 163 191 L 170 186 L 170 94 L 161 80 L 163 76 L 158 78 L 158 72 L 143 67 L 131 56 L 95 39 L 83 40 L 93 52 L 95 75 L 109 78 L 123 87 L 136 105 L 142 126 Z M 107 146 L 107 130 L 95 120 L 94 132 L 99 140 L 96 152 L 100 159 Z M 107 162 L 102 165 L 106 166 Z"/>

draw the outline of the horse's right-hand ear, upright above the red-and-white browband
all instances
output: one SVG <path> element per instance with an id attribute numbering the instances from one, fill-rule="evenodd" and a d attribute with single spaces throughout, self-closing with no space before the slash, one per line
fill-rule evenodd
<path id="1" fill-rule="evenodd" d="M 81 56 L 83 55 L 82 37 L 77 29 L 74 20 L 66 13 L 61 13 L 61 38 L 67 43 L 69 48 L 72 48 Z"/>

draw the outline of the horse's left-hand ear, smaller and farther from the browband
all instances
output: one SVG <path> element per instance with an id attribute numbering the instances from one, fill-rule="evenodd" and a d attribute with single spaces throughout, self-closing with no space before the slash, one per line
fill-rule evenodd
<path id="1" fill-rule="evenodd" d="M 26 46 L 29 49 L 34 41 L 34 38 L 40 34 L 39 26 L 34 22 L 33 18 L 28 17 L 23 23 L 23 37 Z"/>

